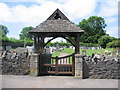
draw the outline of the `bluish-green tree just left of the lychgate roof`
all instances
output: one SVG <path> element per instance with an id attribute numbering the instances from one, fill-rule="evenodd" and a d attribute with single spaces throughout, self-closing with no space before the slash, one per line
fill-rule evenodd
<path id="1" fill-rule="evenodd" d="M 33 27 L 32 26 L 29 26 L 29 27 L 24 27 L 21 31 L 21 33 L 19 34 L 20 36 L 20 39 L 21 40 L 25 40 L 25 39 L 30 39 L 32 40 L 32 35 L 30 33 L 28 33 L 28 31 L 32 30 Z"/>

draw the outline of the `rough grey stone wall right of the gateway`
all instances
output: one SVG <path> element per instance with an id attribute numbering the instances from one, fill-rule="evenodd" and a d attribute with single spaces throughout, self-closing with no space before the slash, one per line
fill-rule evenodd
<path id="1" fill-rule="evenodd" d="M 98 60 L 84 59 L 84 67 L 88 67 L 84 72 L 89 71 L 89 78 L 92 79 L 120 79 L 120 60 Z M 86 75 L 86 73 L 85 73 Z"/>

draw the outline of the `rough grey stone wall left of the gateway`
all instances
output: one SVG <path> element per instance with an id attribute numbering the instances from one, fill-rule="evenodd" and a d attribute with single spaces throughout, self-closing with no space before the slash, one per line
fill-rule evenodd
<path id="1" fill-rule="evenodd" d="M 27 53 L 3 52 L 0 56 L 1 72 L 5 75 L 27 75 L 29 71 L 29 56 Z"/>

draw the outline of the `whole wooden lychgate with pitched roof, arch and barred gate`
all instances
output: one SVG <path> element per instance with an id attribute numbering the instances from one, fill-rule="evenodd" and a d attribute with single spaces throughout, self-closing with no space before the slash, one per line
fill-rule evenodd
<path id="1" fill-rule="evenodd" d="M 80 36 L 84 30 L 72 23 L 59 9 L 47 20 L 29 31 L 34 36 L 35 53 L 30 60 L 31 75 L 44 74 L 71 74 L 75 75 L 75 54 L 79 54 Z M 46 43 L 46 37 L 52 37 Z M 68 40 L 74 47 L 75 53 L 65 57 L 50 57 L 45 55 L 44 47 L 53 39 L 62 37 Z"/>

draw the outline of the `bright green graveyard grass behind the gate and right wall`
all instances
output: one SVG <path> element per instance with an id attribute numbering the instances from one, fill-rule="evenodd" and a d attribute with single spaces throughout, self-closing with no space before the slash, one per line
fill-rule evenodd
<path id="1" fill-rule="evenodd" d="M 86 50 L 86 53 L 87 53 L 87 56 L 91 56 L 92 53 L 104 53 L 105 50 L 108 50 L 108 51 L 113 51 L 113 48 L 109 48 L 109 49 L 98 49 L 98 50 L 91 50 L 91 49 L 81 49 L 80 50 L 80 53 L 82 53 L 82 50 Z M 74 50 L 73 49 L 70 49 L 70 48 L 65 48 L 64 50 L 62 51 L 59 51 L 59 52 L 54 52 L 52 54 L 52 57 L 56 57 L 56 56 L 59 56 L 60 53 L 68 53 L 69 55 L 74 53 Z"/>

